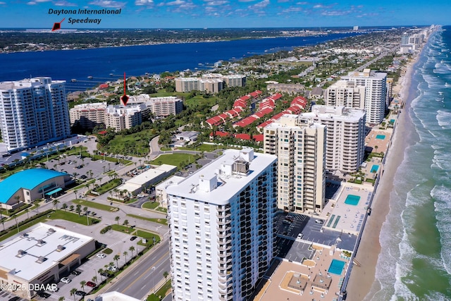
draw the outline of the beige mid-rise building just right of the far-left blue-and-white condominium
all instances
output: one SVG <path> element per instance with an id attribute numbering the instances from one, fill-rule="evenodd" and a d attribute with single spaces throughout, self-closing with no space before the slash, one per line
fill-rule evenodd
<path id="1" fill-rule="evenodd" d="M 78 104 L 70 109 L 70 124 L 92 129 L 105 124 L 106 102 Z"/>

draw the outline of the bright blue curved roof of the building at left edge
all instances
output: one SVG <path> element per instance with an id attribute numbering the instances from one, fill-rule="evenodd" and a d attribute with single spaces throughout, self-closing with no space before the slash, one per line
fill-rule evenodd
<path id="1" fill-rule="evenodd" d="M 44 168 L 25 169 L 25 171 L 14 173 L 0 182 L 0 203 L 6 204 L 20 188 L 32 190 L 39 184 L 59 176 L 68 176 L 68 174 Z"/>

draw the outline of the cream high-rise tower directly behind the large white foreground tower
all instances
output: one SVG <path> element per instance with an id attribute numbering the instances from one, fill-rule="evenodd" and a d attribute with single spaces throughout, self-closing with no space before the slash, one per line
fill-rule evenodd
<path id="1" fill-rule="evenodd" d="M 264 152 L 278 157 L 279 209 L 319 213 L 326 191 L 326 125 L 285 114 L 264 128 Z"/>

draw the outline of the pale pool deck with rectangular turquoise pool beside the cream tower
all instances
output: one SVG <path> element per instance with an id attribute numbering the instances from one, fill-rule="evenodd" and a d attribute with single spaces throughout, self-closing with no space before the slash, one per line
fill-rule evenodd
<path id="1" fill-rule="evenodd" d="M 337 199 L 330 200 L 321 213 L 321 218 L 326 219 L 323 228 L 358 235 L 362 229 L 363 219 L 372 193 L 372 186 L 342 185 Z M 359 204 L 345 204 L 348 195 L 359 196 Z"/>

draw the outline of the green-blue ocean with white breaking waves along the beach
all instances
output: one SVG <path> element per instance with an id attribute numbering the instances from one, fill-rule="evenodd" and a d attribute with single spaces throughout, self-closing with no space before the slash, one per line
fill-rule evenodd
<path id="1" fill-rule="evenodd" d="M 428 40 L 403 111 L 408 147 L 381 229 L 365 300 L 451 300 L 451 27 Z M 375 283 L 375 284 L 376 284 Z"/>

